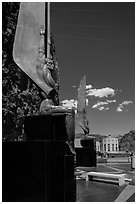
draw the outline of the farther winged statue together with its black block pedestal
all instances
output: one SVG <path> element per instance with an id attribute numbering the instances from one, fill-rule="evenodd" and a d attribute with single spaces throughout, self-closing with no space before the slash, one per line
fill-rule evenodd
<path id="1" fill-rule="evenodd" d="M 86 76 L 80 81 L 78 88 L 78 106 L 76 121 L 84 131 L 81 137 L 81 147 L 76 148 L 77 166 L 96 166 L 96 147 L 95 138 L 91 137 L 87 120 L 87 105 L 86 105 Z"/>

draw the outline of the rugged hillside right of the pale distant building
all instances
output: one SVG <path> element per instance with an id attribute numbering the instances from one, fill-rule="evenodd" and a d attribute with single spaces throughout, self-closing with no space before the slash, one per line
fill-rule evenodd
<path id="1" fill-rule="evenodd" d="M 131 130 L 119 138 L 119 148 L 121 151 L 135 151 L 135 131 Z"/>

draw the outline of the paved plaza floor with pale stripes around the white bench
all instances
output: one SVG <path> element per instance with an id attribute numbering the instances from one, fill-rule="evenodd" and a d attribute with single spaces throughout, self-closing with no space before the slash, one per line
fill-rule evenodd
<path id="1" fill-rule="evenodd" d="M 78 167 L 85 172 L 124 173 L 132 179 L 123 186 L 100 181 L 86 181 L 77 176 L 77 202 L 135 202 L 135 170 L 129 162 L 109 162 L 97 167 Z"/>

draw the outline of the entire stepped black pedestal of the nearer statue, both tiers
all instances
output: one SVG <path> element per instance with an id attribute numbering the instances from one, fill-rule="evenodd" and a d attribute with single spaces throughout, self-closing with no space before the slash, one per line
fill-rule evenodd
<path id="1" fill-rule="evenodd" d="M 3 142 L 3 202 L 74 202 L 65 115 L 25 119 L 26 141 Z"/>

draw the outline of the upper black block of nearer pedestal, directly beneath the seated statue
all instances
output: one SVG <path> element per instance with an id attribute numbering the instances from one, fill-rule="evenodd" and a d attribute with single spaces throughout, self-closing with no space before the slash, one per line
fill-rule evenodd
<path id="1" fill-rule="evenodd" d="M 65 114 L 35 115 L 24 120 L 26 140 L 67 141 Z"/>

